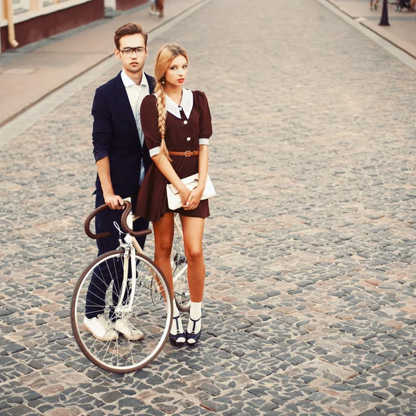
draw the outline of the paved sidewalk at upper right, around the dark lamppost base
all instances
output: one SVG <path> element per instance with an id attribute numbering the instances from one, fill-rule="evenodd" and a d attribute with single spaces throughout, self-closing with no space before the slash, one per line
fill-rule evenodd
<path id="1" fill-rule="evenodd" d="M 383 11 L 383 0 L 379 0 L 377 10 L 370 10 L 370 0 L 327 0 L 349 17 L 394 44 L 402 51 L 416 58 L 416 12 L 395 11 L 393 4 L 388 5 L 390 26 L 379 26 Z M 390 0 L 392 1 L 392 0 Z"/>

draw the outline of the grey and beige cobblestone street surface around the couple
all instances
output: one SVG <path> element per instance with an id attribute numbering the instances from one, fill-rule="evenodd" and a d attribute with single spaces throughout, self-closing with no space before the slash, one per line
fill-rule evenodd
<path id="1" fill-rule="evenodd" d="M 257 4 L 211 0 L 148 58 L 186 46 L 214 120 L 196 347 L 111 374 L 71 336 L 119 67 L 1 149 L 0 415 L 416 414 L 415 72 L 316 1 Z"/>

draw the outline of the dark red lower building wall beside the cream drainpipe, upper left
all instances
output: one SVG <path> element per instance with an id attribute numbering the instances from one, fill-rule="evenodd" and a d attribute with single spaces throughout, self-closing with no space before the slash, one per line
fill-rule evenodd
<path id="1" fill-rule="evenodd" d="M 136 0 L 141 1 L 141 0 Z M 45 37 L 56 35 L 69 29 L 82 26 L 91 21 L 103 19 L 104 17 L 104 0 L 92 0 L 87 3 L 79 4 L 59 10 L 58 12 L 49 13 L 35 17 L 34 19 L 22 21 L 15 25 L 16 40 L 19 46 L 24 46 Z M 1 52 L 11 49 L 8 43 L 7 26 L 1 30 Z"/>

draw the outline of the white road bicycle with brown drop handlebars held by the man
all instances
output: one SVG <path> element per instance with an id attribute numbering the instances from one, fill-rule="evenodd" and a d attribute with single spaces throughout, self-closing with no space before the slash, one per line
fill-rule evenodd
<path id="1" fill-rule="evenodd" d="M 146 257 L 135 239 L 136 236 L 150 234 L 151 230 L 132 230 L 132 205 L 129 200 L 124 202 L 125 210 L 121 216 L 121 225 L 126 233 L 124 242 L 119 229 L 119 249 L 102 254 L 85 268 L 71 301 L 73 336 L 83 354 L 103 370 L 120 373 L 140 370 L 157 357 L 168 339 L 173 319 L 171 289 L 166 278 L 162 270 Z M 92 218 L 107 208 L 107 205 L 102 205 L 85 219 L 85 232 L 90 238 L 101 239 L 110 235 L 110 232 L 94 234 L 89 230 Z M 178 309 L 188 311 L 187 261 L 184 252 L 178 251 L 183 249 L 183 236 L 176 217 L 175 229 L 175 250 L 172 250 L 171 256 L 174 287 L 179 290 L 174 291 L 175 302 Z M 107 287 L 104 304 L 91 300 L 94 295 L 89 287 L 96 286 L 97 279 L 105 281 Z M 128 318 L 135 328 L 144 333 L 144 338 L 128 340 L 118 336 L 115 340 L 98 340 L 83 324 L 86 311 L 94 308 L 103 310 L 105 317 Z"/>

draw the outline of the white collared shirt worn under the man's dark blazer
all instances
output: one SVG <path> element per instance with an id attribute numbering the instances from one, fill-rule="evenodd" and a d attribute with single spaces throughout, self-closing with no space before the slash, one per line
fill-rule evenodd
<path id="1" fill-rule="evenodd" d="M 137 132 L 139 133 L 139 139 L 141 146 L 144 145 L 144 133 L 141 130 L 141 121 L 140 121 L 140 106 L 144 97 L 150 94 L 149 84 L 146 76 L 143 73 L 141 76 L 140 85 L 136 85 L 135 81 L 128 78 L 126 73 L 121 71 L 121 80 L 123 81 L 125 91 L 127 92 L 128 101 L 130 101 L 130 106 L 132 107 L 133 115 L 135 116 L 135 121 L 137 125 Z M 140 166 L 140 180 L 139 184 L 144 180 L 144 163 L 141 162 Z"/>

